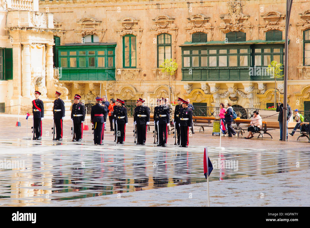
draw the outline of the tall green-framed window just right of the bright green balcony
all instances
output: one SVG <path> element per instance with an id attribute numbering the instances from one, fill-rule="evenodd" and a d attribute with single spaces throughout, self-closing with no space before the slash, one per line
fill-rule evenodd
<path id="1" fill-rule="evenodd" d="M 136 67 L 136 37 L 131 34 L 123 36 L 123 67 Z"/>

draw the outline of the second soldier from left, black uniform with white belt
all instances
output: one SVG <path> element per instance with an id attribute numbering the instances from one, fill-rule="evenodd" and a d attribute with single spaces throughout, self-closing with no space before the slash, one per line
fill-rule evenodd
<path id="1" fill-rule="evenodd" d="M 60 99 L 60 92 L 55 93 L 56 100 L 54 101 L 53 113 L 54 113 L 54 122 L 56 127 L 56 138 L 53 140 L 62 141 L 62 133 L 63 133 L 63 124 L 62 121 L 64 119 L 64 101 Z M 54 129 L 55 131 L 55 129 Z"/>

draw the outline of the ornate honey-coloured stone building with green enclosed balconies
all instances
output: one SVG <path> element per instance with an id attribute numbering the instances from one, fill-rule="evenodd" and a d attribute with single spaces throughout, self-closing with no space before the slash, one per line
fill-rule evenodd
<path id="1" fill-rule="evenodd" d="M 170 78 L 174 99 L 180 96 L 207 106 L 231 102 L 243 108 L 266 108 L 274 102 L 275 82 L 266 67 L 272 60 L 284 64 L 285 0 L 46 0 L 39 1 L 39 9 L 48 23 L 31 25 L 40 28 L 32 31 L 40 38 L 28 38 L 27 43 L 38 50 L 44 44 L 45 55 L 38 62 L 59 69 L 48 71 L 45 82 L 41 80 L 47 98 L 58 86 L 68 99 L 78 93 L 94 100 L 106 90 L 108 98 L 143 97 L 154 103 L 157 97 L 169 96 L 169 77 L 159 65 L 172 58 L 178 63 Z M 9 16 L 13 11 L 6 12 Z M 24 48 L 17 34 L 30 31 L 13 29 L 17 25 L 10 23 L 8 19 L 8 36 L 1 34 L 0 47 L 13 47 L 13 59 L 20 62 L 13 61 L 13 79 L 1 82 L 9 88 L 7 100 L 1 102 L 13 104 L 16 96 L 33 96 L 38 85 L 36 72 L 24 67 L 32 61 L 22 61 L 14 52 Z M 310 108 L 309 31 L 310 2 L 293 1 L 288 101 L 300 110 Z M 283 79 L 276 87 L 282 101 Z"/>

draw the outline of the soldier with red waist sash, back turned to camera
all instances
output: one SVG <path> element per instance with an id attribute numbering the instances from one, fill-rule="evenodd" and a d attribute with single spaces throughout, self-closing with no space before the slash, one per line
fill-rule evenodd
<path id="1" fill-rule="evenodd" d="M 103 124 L 106 122 L 104 105 L 100 102 L 102 98 L 96 97 L 96 104 L 91 107 L 91 123 L 94 124 L 94 144 L 102 145 Z"/>

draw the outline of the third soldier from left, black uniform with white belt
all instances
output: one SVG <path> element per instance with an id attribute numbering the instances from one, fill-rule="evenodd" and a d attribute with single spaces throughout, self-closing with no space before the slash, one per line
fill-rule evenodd
<path id="1" fill-rule="evenodd" d="M 85 121 L 85 105 L 80 102 L 81 96 L 74 95 L 71 109 L 71 120 L 73 122 L 75 139 L 73 141 L 80 142 L 83 138 L 83 122 Z"/>

